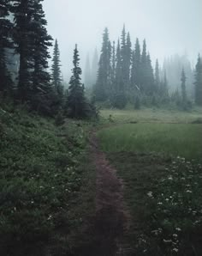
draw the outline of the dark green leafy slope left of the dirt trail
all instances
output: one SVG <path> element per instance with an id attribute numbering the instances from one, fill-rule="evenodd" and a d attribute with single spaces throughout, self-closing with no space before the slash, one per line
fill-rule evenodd
<path id="1" fill-rule="evenodd" d="M 92 214 L 95 183 L 93 167 L 80 165 L 89 162 L 80 124 L 58 128 L 0 107 L 1 255 L 74 255 L 80 247 L 74 237 Z"/>

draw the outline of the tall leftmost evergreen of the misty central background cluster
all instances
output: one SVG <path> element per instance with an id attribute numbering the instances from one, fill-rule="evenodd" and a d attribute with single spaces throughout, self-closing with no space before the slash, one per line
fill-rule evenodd
<path id="1" fill-rule="evenodd" d="M 98 64 L 98 78 L 94 88 L 96 101 L 106 101 L 108 98 L 108 91 L 110 88 L 110 59 L 111 59 L 111 45 L 109 39 L 108 28 L 104 29 L 103 45 Z"/>

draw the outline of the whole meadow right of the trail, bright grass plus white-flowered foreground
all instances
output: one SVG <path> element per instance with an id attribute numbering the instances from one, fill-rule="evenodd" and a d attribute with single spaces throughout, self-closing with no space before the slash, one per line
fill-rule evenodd
<path id="1" fill-rule="evenodd" d="M 102 114 L 111 115 L 98 137 L 125 184 L 131 255 L 202 255 L 202 125 L 192 124 L 201 112 Z"/>

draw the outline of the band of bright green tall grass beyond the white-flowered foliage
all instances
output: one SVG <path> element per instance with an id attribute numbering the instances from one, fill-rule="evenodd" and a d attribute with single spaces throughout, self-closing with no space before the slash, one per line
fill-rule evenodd
<path id="1" fill-rule="evenodd" d="M 157 152 L 201 158 L 202 125 L 131 124 L 118 125 L 98 132 L 104 151 Z"/>

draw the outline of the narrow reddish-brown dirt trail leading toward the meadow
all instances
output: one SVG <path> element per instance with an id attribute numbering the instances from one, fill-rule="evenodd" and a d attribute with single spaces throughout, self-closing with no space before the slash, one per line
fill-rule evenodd
<path id="1" fill-rule="evenodd" d="M 92 162 L 96 167 L 96 256 L 127 255 L 122 238 L 129 225 L 129 214 L 123 201 L 123 182 L 98 148 L 93 131 L 90 138 Z"/>

